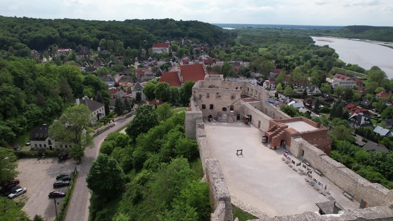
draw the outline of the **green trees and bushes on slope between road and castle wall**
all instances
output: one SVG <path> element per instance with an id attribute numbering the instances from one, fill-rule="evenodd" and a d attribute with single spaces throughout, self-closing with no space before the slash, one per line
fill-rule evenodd
<path id="1" fill-rule="evenodd" d="M 185 136 L 185 112 L 169 110 L 159 121 L 159 109 L 138 107 L 127 134 L 110 133 L 103 142 L 86 179 L 91 220 L 209 219 L 208 183 L 200 182 L 198 144 Z"/>

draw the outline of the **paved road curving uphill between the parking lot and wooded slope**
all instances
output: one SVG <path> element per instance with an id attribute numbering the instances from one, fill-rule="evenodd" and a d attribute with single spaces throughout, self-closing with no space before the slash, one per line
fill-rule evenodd
<path id="1" fill-rule="evenodd" d="M 93 160 L 97 158 L 99 153 L 99 147 L 104 141 L 105 137 L 110 132 L 117 131 L 124 127 L 135 115 L 121 119 L 115 122 L 115 126 L 108 129 L 107 131 L 99 134 L 94 138 L 95 147 L 92 149 L 86 149 L 84 151 L 84 157 L 82 159 L 81 169 L 79 169 L 78 180 L 75 185 L 75 190 L 72 195 L 70 206 L 66 216 L 66 221 L 88 221 L 89 218 L 89 205 L 90 205 L 90 192 L 88 191 L 86 184 L 86 176 L 90 169 L 90 165 Z"/>

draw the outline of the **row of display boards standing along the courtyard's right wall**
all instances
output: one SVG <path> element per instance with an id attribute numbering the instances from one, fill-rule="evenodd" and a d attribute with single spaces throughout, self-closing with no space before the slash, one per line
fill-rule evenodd
<path id="1" fill-rule="evenodd" d="M 289 151 L 284 151 L 284 156 L 281 158 L 292 170 L 301 171 L 306 175 L 305 180 L 309 182 L 310 186 L 313 186 L 315 190 L 318 190 L 321 194 L 330 194 L 330 184 L 323 183 L 318 177 L 312 175 L 312 168 L 304 162 L 295 162 L 295 158 L 291 158 Z M 295 160 L 294 160 L 295 159 Z"/>

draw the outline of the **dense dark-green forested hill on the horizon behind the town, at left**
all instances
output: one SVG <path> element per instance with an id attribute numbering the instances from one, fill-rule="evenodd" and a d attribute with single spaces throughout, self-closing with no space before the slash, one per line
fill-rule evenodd
<path id="1" fill-rule="evenodd" d="M 29 56 L 28 48 L 45 50 L 56 44 L 75 49 L 79 44 L 97 48 L 102 39 L 123 42 L 124 48 L 151 47 L 153 42 L 175 38 L 196 39 L 208 44 L 224 41 L 222 28 L 198 21 L 146 19 L 96 21 L 81 19 L 40 19 L 0 16 L 0 50 L 12 47 L 18 56 Z"/>

